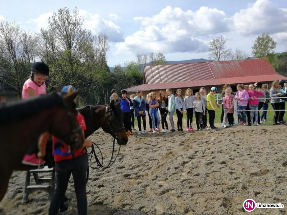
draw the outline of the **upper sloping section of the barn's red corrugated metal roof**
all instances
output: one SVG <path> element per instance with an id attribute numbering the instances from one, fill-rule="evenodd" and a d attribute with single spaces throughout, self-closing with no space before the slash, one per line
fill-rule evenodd
<path id="1" fill-rule="evenodd" d="M 276 71 L 265 58 L 148 65 L 144 67 L 146 84 L 274 74 Z"/>

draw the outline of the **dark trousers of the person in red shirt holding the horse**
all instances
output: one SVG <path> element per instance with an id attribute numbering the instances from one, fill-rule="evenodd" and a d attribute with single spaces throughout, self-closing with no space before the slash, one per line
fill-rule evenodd
<path id="1" fill-rule="evenodd" d="M 62 199 L 66 193 L 71 174 L 74 179 L 75 193 L 77 196 L 77 209 L 79 215 L 87 214 L 86 174 L 88 168 L 87 152 L 70 160 L 55 162 L 56 191 L 49 208 L 49 215 L 57 215 Z"/>

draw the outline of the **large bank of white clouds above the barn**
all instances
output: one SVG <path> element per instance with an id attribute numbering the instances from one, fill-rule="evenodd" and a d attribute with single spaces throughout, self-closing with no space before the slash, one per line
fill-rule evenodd
<path id="1" fill-rule="evenodd" d="M 257 0 L 246 9 L 228 16 L 216 8 L 200 7 L 183 11 L 167 6 L 150 17 L 135 17 L 140 29 L 116 44 L 117 53 L 150 52 L 200 53 L 208 51 L 208 41 L 221 34 L 229 39 L 243 40 L 263 32 L 286 42 L 287 8 L 279 8 L 270 0 Z"/>

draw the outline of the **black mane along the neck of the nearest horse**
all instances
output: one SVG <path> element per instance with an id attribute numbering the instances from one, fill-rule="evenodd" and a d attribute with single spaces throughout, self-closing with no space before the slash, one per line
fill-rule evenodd
<path id="1" fill-rule="evenodd" d="M 64 106 L 64 100 L 60 93 L 53 92 L 17 101 L 2 102 L 0 103 L 0 125 L 29 117 L 53 106 Z"/>

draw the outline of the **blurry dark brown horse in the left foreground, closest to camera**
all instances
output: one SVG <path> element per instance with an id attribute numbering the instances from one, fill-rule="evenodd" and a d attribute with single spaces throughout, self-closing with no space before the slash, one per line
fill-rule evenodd
<path id="1" fill-rule="evenodd" d="M 40 95 L 0 104 L 0 201 L 3 199 L 13 170 L 24 170 L 24 154 L 48 131 L 73 148 L 84 143 L 73 102 L 78 91 L 61 95 Z"/>

